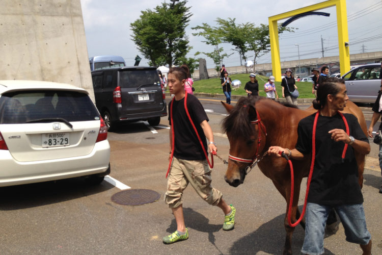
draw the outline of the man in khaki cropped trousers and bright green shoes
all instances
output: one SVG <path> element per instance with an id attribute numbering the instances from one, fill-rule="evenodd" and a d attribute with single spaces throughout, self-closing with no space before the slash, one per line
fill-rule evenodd
<path id="1" fill-rule="evenodd" d="M 210 205 L 222 209 L 225 214 L 223 230 L 232 230 L 235 224 L 236 209 L 225 202 L 222 192 L 211 186 L 211 169 L 208 167 L 205 152 L 212 154 L 217 148 L 202 104 L 194 95 L 184 91 L 187 73 L 188 67 L 185 65 L 174 67 L 169 71 L 167 80 L 174 99 L 169 104 L 171 168 L 165 202 L 172 209 L 177 230 L 163 237 L 163 243 L 166 244 L 188 239 L 182 206 L 183 190 L 188 184 Z M 208 147 L 206 138 L 209 141 Z"/>

